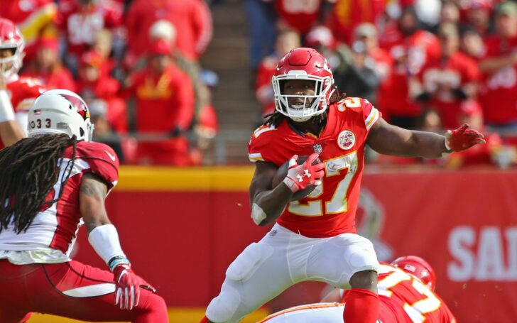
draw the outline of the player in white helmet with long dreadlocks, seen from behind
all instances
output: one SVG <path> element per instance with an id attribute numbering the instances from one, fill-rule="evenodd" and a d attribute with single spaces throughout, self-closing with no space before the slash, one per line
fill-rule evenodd
<path id="1" fill-rule="evenodd" d="M 131 269 L 104 199 L 119 160 L 91 142 L 85 102 L 65 89 L 41 94 L 28 136 L 0 150 L 0 322 L 28 312 L 85 321 L 168 322 L 163 298 Z M 110 271 L 70 259 L 79 227 Z"/>

